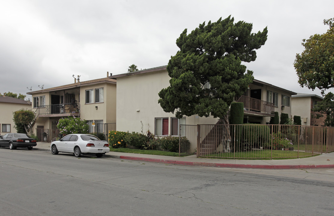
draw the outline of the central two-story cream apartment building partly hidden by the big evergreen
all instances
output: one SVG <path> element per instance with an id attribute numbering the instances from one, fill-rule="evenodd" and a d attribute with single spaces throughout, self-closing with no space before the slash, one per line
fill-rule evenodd
<path id="1" fill-rule="evenodd" d="M 118 131 L 143 132 L 148 129 L 157 136 L 178 135 L 180 124 L 216 124 L 218 118 L 193 115 L 175 118 L 158 104 L 158 92 L 169 86 L 166 66 L 110 76 L 117 79 Z M 254 80 L 245 94 L 237 98 L 244 102 L 244 122 L 269 123 L 274 111 L 291 115 L 290 98 L 295 92 Z M 283 99 L 282 99 L 283 98 Z M 267 102 L 268 101 L 268 102 Z M 142 128 L 143 125 L 143 129 Z"/>

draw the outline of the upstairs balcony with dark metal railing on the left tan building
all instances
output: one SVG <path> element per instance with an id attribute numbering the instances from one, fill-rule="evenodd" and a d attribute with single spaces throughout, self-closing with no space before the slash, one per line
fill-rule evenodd
<path id="1" fill-rule="evenodd" d="M 39 117 L 65 117 L 65 116 L 79 116 L 79 103 L 62 103 L 52 105 L 38 106 L 35 111 L 35 116 Z"/>

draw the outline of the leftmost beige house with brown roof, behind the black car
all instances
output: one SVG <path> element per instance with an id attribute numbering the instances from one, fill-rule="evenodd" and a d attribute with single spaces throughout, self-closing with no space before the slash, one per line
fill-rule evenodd
<path id="1" fill-rule="evenodd" d="M 9 96 L 0 96 L 1 135 L 6 133 L 16 133 L 16 129 L 14 128 L 15 124 L 13 121 L 13 112 L 21 109 L 31 110 L 31 102 Z"/>

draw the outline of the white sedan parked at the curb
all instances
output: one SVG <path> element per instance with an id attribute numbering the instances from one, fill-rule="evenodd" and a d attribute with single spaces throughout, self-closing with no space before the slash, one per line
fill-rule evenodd
<path id="1" fill-rule="evenodd" d="M 52 155 L 66 152 L 73 153 L 77 158 L 82 154 L 96 154 L 96 157 L 101 158 L 110 151 L 107 141 L 90 134 L 69 134 L 53 141 L 50 146 Z"/>

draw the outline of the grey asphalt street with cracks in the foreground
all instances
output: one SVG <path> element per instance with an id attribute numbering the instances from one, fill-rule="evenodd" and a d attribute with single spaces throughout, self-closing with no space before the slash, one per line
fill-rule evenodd
<path id="1" fill-rule="evenodd" d="M 2 216 L 332 215 L 334 210 L 333 181 L 298 176 L 5 148 L 0 166 Z"/>

